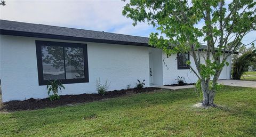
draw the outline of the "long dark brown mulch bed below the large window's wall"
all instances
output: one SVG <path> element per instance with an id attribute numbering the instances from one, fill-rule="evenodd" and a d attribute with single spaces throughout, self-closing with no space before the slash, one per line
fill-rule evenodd
<path id="1" fill-rule="evenodd" d="M 131 88 L 129 90 L 115 90 L 109 91 L 106 95 L 99 94 L 79 94 L 79 95 L 61 95 L 59 100 L 50 101 L 46 99 L 28 99 L 24 101 L 9 101 L 4 102 L 3 107 L 0 110 L 6 111 L 18 111 L 18 110 L 34 110 L 42 108 L 52 108 L 63 106 L 67 104 L 83 103 L 83 102 L 92 102 L 99 101 L 102 99 L 116 98 L 118 96 L 124 96 L 127 94 L 137 94 L 141 92 L 155 91 L 159 90 L 156 87 L 146 87 L 138 90 L 137 88 Z"/>

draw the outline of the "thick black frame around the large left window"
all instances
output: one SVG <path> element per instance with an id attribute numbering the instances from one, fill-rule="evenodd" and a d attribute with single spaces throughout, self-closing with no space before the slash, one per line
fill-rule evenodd
<path id="1" fill-rule="evenodd" d="M 44 80 L 43 77 L 43 62 L 42 62 L 42 46 L 59 46 L 59 47 L 81 47 L 84 54 L 84 78 L 77 79 L 58 79 L 62 84 L 71 83 L 88 83 L 89 82 L 89 70 L 88 70 L 88 57 L 87 57 L 87 44 L 82 43 L 67 43 L 67 42 L 51 42 L 51 41 L 36 41 L 36 58 L 37 58 L 37 73 L 38 84 L 47 85 L 49 80 Z M 65 71 L 66 74 L 66 71 Z"/>

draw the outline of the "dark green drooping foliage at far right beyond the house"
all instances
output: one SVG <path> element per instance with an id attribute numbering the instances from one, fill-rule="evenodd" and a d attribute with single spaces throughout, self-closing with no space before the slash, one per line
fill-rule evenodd
<path id="1" fill-rule="evenodd" d="M 239 54 L 233 55 L 233 79 L 240 79 L 250 65 L 256 63 L 256 49 L 254 46 L 250 48 L 242 48 Z"/>

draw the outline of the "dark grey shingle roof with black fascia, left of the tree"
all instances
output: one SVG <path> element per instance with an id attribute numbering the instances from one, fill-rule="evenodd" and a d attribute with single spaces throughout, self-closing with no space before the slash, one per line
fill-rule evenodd
<path id="1" fill-rule="evenodd" d="M 113 43 L 125 45 L 148 46 L 149 38 L 106 33 L 102 31 L 92 31 L 84 29 L 57 27 L 9 20 L 0 20 L 1 34 L 28 36 L 28 37 L 43 37 L 54 39 L 67 39 L 73 41 Z"/>

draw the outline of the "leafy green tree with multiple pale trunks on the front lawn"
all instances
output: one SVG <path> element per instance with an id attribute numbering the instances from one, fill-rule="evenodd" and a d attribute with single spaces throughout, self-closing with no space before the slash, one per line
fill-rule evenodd
<path id="1" fill-rule="evenodd" d="M 190 61 L 187 64 L 201 83 L 202 105 L 215 107 L 217 80 L 223 66 L 228 65 L 227 58 L 256 41 L 241 44 L 243 37 L 255 30 L 255 4 L 253 0 L 234 0 L 230 4 L 222 0 L 131 0 L 122 13 L 133 20 L 133 26 L 147 22 L 161 31 L 150 34 L 149 45 L 163 49 L 167 55 L 189 52 L 196 68 L 190 66 Z M 198 23 L 203 27 L 196 27 Z M 201 38 L 206 48 L 199 44 Z"/>

